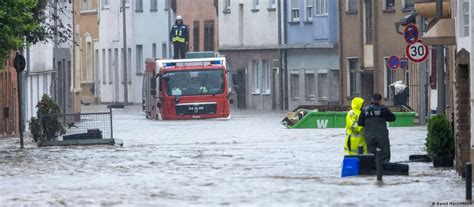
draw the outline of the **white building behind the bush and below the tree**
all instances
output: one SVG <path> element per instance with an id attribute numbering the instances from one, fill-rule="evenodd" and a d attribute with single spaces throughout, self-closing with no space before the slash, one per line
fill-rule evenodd
<path id="1" fill-rule="evenodd" d="M 51 3 L 50 3 L 51 4 Z M 64 9 L 61 15 L 62 24 L 72 25 L 72 3 L 69 1 L 58 1 L 58 8 Z M 48 5 L 46 16 L 54 13 L 54 6 Z M 48 19 L 48 21 L 52 21 Z M 72 32 L 72 28 L 69 28 Z M 54 40 L 47 43 L 38 43 L 26 48 L 27 71 L 24 89 L 26 120 L 36 117 L 37 103 L 43 94 L 54 98 L 61 107 L 63 113 L 71 113 L 73 110 L 72 85 L 72 39 L 64 43 L 55 44 Z"/>

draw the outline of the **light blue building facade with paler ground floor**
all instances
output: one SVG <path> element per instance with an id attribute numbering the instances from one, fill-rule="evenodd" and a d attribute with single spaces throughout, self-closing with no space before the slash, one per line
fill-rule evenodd
<path id="1" fill-rule="evenodd" d="M 284 1 L 288 107 L 339 104 L 338 2 Z"/>

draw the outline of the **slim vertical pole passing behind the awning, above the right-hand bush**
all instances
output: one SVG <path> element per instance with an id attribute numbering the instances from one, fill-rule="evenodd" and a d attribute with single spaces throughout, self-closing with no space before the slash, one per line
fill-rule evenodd
<path id="1" fill-rule="evenodd" d="M 436 18 L 443 18 L 443 0 L 436 0 Z M 436 67 L 438 74 L 438 108 L 437 114 L 446 115 L 446 82 L 444 73 L 444 46 L 436 46 Z"/>

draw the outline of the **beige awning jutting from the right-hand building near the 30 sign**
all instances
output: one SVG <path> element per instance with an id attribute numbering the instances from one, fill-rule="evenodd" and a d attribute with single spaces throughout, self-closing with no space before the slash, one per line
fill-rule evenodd
<path id="1" fill-rule="evenodd" d="M 454 19 L 441 19 L 422 37 L 426 45 L 455 45 Z"/>

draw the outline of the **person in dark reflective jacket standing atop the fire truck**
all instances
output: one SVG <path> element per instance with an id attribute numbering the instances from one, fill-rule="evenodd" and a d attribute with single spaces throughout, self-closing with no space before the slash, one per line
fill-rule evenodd
<path id="1" fill-rule="evenodd" d="M 174 59 L 184 59 L 188 50 L 189 33 L 181 16 L 176 17 L 176 22 L 171 27 L 170 42 L 174 46 Z"/>

